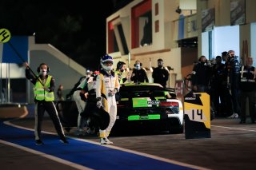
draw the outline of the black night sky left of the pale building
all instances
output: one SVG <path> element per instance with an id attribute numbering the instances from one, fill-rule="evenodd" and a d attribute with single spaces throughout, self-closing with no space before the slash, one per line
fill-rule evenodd
<path id="1" fill-rule="evenodd" d="M 12 36 L 35 33 L 87 69 L 106 53 L 106 18 L 132 0 L 0 0 L 0 28 Z"/>

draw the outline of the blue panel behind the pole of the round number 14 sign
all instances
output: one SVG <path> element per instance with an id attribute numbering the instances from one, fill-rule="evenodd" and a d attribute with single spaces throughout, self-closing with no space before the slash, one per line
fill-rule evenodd
<path id="1" fill-rule="evenodd" d="M 11 48 L 10 44 L 13 45 L 14 49 L 19 53 L 20 57 L 24 61 L 28 60 L 29 42 L 27 36 L 13 36 L 10 38 L 10 42 L 2 44 L 2 63 L 17 63 L 22 64 L 23 61 L 18 54 L 15 53 L 14 49 Z M 1 49 L 1 48 L 0 48 Z M 1 53 L 0 53 L 1 54 Z"/>

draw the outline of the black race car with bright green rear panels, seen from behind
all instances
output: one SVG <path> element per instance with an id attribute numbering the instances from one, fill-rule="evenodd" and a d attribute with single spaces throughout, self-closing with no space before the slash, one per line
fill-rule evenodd
<path id="1" fill-rule="evenodd" d="M 131 128 L 183 132 L 183 106 L 176 98 L 174 89 L 164 89 L 156 83 L 127 83 L 122 84 L 117 95 L 118 113 L 114 132 Z"/>

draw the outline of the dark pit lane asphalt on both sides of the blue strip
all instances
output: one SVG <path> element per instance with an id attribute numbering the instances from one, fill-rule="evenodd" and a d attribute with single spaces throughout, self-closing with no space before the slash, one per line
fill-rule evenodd
<path id="1" fill-rule="evenodd" d="M 12 121 L 15 125 L 34 128 L 34 119 Z M 52 122 L 46 118 L 42 129 L 55 132 Z M 66 132 L 74 136 L 75 128 Z M 86 140 L 98 141 L 96 135 L 81 136 Z M 31 139 L 34 140 L 34 139 Z M 137 133 L 110 136 L 114 146 L 194 164 L 210 169 L 256 169 L 256 124 L 239 125 L 238 119 L 217 117 L 211 121 L 211 138 L 185 139 L 185 134 Z M 74 169 L 54 160 L 34 155 L 0 143 L 1 169 Z"/>

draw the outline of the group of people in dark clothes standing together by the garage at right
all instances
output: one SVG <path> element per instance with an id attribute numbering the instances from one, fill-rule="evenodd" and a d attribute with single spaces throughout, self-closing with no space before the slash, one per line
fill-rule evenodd
<path id="1" fill-rule="evenodd" d="M 223 63 L 222 63 L 223 61 Z M 240 117 L 246 123 L 246 99 L 249 100 L 250 121 L 255 123 L 256 83 L 253 58 L 246 57 L 245 65 L 235 56 L 234 50 L 223 52 L 215 62 L 207 63 L 201 56 L 192 71 L 194 92 L 210 94 L 211 107 L 218 116 Z"/>

